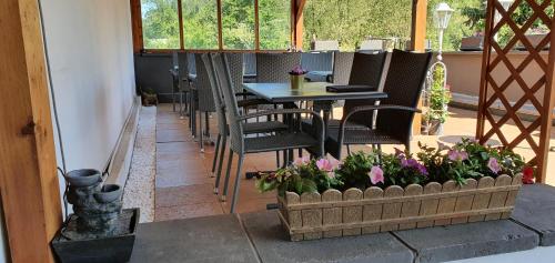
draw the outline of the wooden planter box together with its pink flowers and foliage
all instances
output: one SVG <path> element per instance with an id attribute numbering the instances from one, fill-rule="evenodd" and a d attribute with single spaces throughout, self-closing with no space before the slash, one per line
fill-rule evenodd
<path id="1" fill-rule="evenodd" d="M 300 241 L 506 219 L 533 178 L 519 155 L 471 140 L 421 149 L 299 159 L 256 185 L 278 190 L 280 219 Z"/>

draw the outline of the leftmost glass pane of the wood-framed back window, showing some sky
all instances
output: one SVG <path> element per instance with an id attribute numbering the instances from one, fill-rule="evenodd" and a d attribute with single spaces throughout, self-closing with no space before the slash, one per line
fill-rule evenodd
<path id="1" fill-rule="evenodd" d="M 141 0 L 145 49 L 179 49 L 178 0 Z"/>

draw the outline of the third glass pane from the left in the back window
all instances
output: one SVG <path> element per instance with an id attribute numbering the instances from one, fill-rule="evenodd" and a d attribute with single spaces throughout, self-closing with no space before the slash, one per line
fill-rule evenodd
<path id="1" fill-rule="evenodd" d="M 254 49 L 254 0 L 222 0 L 224 49 Z"/>

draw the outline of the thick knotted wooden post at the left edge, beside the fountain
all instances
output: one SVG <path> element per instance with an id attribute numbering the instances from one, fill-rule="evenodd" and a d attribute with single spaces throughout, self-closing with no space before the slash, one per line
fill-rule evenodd
<path id="1" fill-rule="evenodd" d="M 11 262 L 54 262 L 62 224 L 54 135 L 36 0 L 0 8 L 0 193 Z"/>

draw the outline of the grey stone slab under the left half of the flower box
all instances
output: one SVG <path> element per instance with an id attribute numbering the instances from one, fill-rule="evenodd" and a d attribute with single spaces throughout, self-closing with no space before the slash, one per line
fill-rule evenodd
<path id="1" fill-rule="evenodd" d="M 291 242 L 276 211 L 241 214 L 241 220 L 264 263 L 413 262 L 412 252 L 390 233 Z"/>

